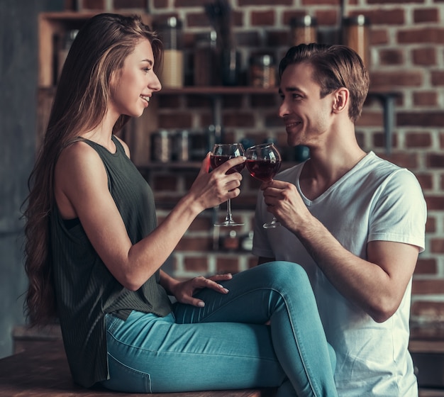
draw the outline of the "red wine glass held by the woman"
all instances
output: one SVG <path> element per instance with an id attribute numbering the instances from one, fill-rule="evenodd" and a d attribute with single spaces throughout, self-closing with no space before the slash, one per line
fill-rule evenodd
<path id="1" fill-rule="evenodd" d="M 210 156 L 210 164 L 212 169 L 216 169 L 219 165 L 233 157 L 245 156 L 245 150 L 240 143 L 216 143 L 213 146 Z M 245 162 L 235 165 L 228 169 L 226 174 L 233 174 L 233 172 L 242 172 L 245 167 Z M 231 215 L 231 199 L 227 201 L 227 215 L 222 223 L 214 223 L 215 226 L 242 226 L 243 223 L 238 223 L 233 220 Z"/>

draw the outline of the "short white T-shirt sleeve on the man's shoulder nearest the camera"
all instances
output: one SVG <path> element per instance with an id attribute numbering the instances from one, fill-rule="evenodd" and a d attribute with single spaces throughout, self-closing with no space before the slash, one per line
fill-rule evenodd
<path id="1" fill-rule="evenodd" d="M 427 208 L 418 180 L 407 169 L 387 177 L 372 203 L 368 241 L 383 240 L 425 248 Z"/>

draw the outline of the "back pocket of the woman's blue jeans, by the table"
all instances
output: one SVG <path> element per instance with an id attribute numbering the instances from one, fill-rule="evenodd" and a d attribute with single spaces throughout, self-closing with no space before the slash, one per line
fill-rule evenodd
<path id="1" fill-rule="evenodd" d="M 102 386 L 126 393 L 152 393 L 150 374 L 122 364 L 108 354 L 110 379 L 102 381 Z"/>

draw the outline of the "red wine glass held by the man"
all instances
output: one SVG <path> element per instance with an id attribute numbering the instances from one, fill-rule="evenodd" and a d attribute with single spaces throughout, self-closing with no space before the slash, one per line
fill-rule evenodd
<path id="1" fill-rule="evenodd" d="M 281 155 L 273 143 L 262 143 L 248 147 L 245 153 L 247 157 L 246 167 L 253 178 L 260 181 L 271 181 L 281 167 Z M 264 223 L 263 228 L 277 228 L 281 224 L 273 216 L 271 223 Z"/>

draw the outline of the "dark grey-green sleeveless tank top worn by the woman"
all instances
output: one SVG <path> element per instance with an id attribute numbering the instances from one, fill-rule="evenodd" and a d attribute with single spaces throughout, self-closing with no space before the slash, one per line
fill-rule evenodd
<path id="1" fill-rule="evenodd" d="M 152 190 L 116 137 L 116 153 L 84 140 L 101 157 L 131 242 L 157 225 Z M 109 272 L 88 240 L 79 220 L 66 222 L 57 208 L 51 216 L 51 251 L 57 314 L 74 381 L 89 387 L 108 377 L 105 314 L 126 320 L 131 311 L 165 316 L 170 299 L 158 284 L 159 270 L 138 291 L 125 289 Z"/>

